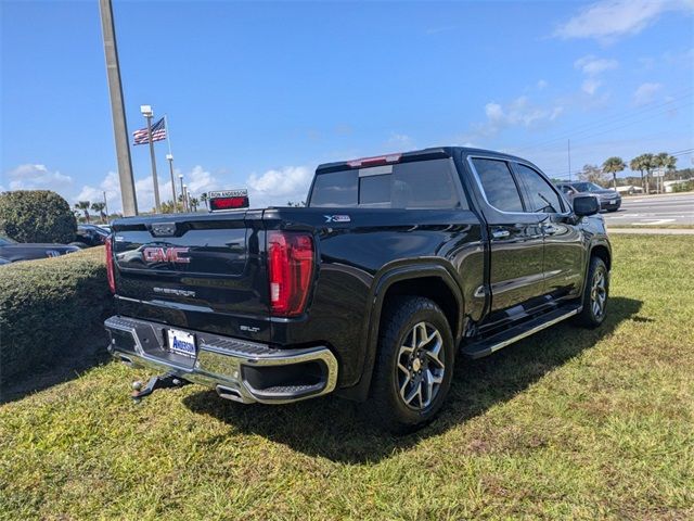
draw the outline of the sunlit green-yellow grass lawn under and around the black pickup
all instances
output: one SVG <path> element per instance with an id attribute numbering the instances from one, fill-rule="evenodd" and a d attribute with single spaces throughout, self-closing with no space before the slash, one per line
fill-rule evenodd
<path id="1" fill-rule="evenodd" d="M 108 363 L 0 406 L 0 518 L 694 519 L 694 237 L 614 237 L 608 319 L 474 363 L 408 437 Z"/>

